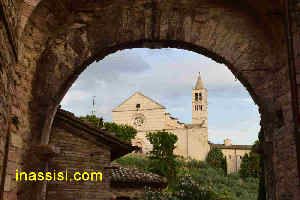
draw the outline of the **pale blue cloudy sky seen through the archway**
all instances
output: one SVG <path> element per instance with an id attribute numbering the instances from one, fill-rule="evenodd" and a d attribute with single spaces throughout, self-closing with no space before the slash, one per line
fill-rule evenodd
<path id="1" fill-rule="evenodd" d="M 139 91 L 164 105 L 183 123 L 192 121 L 192 88 L 198 73 L 208 90 L 208 138 L 223 144 L 253 144 L 260 115 L 246 88 L 223 64 L 191 51 L 127 49 L 94 62 L 74 82 L 61 105 L 76 116 L 91 114 L 112 121 L 112 109 Z"/>

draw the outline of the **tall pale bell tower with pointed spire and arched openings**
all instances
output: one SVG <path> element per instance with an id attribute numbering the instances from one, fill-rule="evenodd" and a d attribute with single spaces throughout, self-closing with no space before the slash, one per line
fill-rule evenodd
<path id="1" fill-rule="evenodd" d="M 207 90 L 203 86 L 200 72 L 192 93 L 192 124 L 207 127 Z"/>

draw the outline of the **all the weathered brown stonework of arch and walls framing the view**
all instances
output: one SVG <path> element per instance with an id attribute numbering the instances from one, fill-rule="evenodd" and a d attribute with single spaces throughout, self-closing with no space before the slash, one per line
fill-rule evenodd
<path id="1" fill-rule="evenodd" d="M 47 143 L 57 105 L 77 76 L 91 62 L 134 47 L 176 47 L 225 63 L 259 106 L 268 199 L 300 196 L 298 1 L 2 0 L 0 6 L 14 19 L 0 20 L 0 88 L 7 94 L 0 149 L 9 144 L 3 199 L 35 199 L 13 171 L 30 167 L 30 149 Z"/>

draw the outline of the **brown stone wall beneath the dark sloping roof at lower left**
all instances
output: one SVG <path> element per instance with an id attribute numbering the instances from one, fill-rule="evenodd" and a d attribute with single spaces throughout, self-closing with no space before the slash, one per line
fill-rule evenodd
<path id="1" fill-rule="evenodd" d="M 68 177 L 76 171 L 80 173 L 101 171 L 103 181 L 50 183 L 47 185 L 47 199 L 110 199 L 112 197 L 109 192 L 110 171 L 105 169 L 110 165 L 109 147 L 96 145 L 86 138 L 77 136 L 78 133 L 74 135 L 61 124 L 54 123 L 52 129 L 50 144 L 58 147 L 61 152 L 49 162 L 49 170 L 64 172 L 68 169 Z"/>

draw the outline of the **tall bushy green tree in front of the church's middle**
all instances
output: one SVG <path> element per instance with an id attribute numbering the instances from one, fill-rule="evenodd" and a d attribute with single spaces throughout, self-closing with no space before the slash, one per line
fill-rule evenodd
<path id="1" fill-rule="evenodd" d="M 175 181 L 177 162 L 173 151 L 178 137 L 165 131 L 147 133 L 146 137 L 153 145 L 149 156 L 152 160 L 150 170 L 167 177 L 169 182 Z"/>

